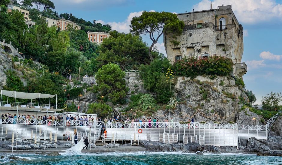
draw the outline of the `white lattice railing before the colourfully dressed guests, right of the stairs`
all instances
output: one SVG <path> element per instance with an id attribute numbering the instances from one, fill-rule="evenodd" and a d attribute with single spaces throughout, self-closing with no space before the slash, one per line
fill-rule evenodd
<path id="1" fill-rule="evenodd" d="M 236 123 L 190 123 L 180 124 L 179 122 L 134 122 L 122 123 L 113 122 L 106 123 L 106 128 L 195 128 L 195 129 L 237 129 Z"/>

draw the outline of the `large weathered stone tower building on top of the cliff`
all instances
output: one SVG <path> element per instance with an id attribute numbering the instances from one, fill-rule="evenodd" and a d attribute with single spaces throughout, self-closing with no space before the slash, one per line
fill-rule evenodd
<path id="1" fill-rule="evenodd" d="M 177 14 L 184 21 L 182 35 L 177 36 L 179 45 L 171 43 L 172 35 L 164 34 L 167 58 L 171 62 L 183 57 L 208 57 L 220 55 L 231 58 L 233 76 L 243 76 L 247 65 L 241 63 L 243 55 L 243 27 L 239 24 L 231 5 L 218 6 L 217 9 L 193 11 Z"/>

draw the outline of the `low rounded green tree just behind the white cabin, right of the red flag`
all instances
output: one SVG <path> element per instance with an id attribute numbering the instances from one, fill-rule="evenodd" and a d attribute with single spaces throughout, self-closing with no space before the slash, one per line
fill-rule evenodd
<path id="1" fill-rule="evenodd" d="M 112 109 L 110 106 L 104 103 L 92 103 L 88 105 L 87 113 L 97 114 L 97 117 L 101 117 L 101 119 L 107 118 L 108 113 L 111 116 Z"/>

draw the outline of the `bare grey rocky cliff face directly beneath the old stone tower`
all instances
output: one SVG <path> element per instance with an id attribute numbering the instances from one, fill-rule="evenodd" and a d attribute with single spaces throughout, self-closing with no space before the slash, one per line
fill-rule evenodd
<path id="1" fill-rule="evenodd" d="M 231 77 L 230 79 L 221 76 L 214 79 L 208 76 L 197 76 L 195 79 L 178 77 L 175 90 L 179 104 L 170 112 L 159 110 L 156 117 L 161 122 L 170 116 L 174 121 L 187 121 L 193 117 L 195 122 L 260 124 L 260 116 L 248 109 L 240 110 L 240 102 L 247 102 L 248 98 Z"/>

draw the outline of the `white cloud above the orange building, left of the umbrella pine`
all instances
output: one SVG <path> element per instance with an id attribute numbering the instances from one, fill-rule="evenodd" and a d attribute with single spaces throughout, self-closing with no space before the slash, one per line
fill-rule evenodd
<path id="1" fill-rule="evenodd" d="M 154 12 L 155 10 L 150 10 L 151 12 Z M 127 19 L 123 22 L 105 22 L 103 20 L 98 20 L 96 22 L 99 22 L 101 24 L 109 24 L 110 26 L 112 26 L 112 30 L 116 30 L 118 32 L 125 32 L 125 33 L 129 33 L 129 29 L 130 29 L 130 21 L 132 20 L 133 17 L 135 16 L 141 16 L 143 11 L 138 11 L 138 12 L 133 12 L 133 13 L 129 13 Z"/>

